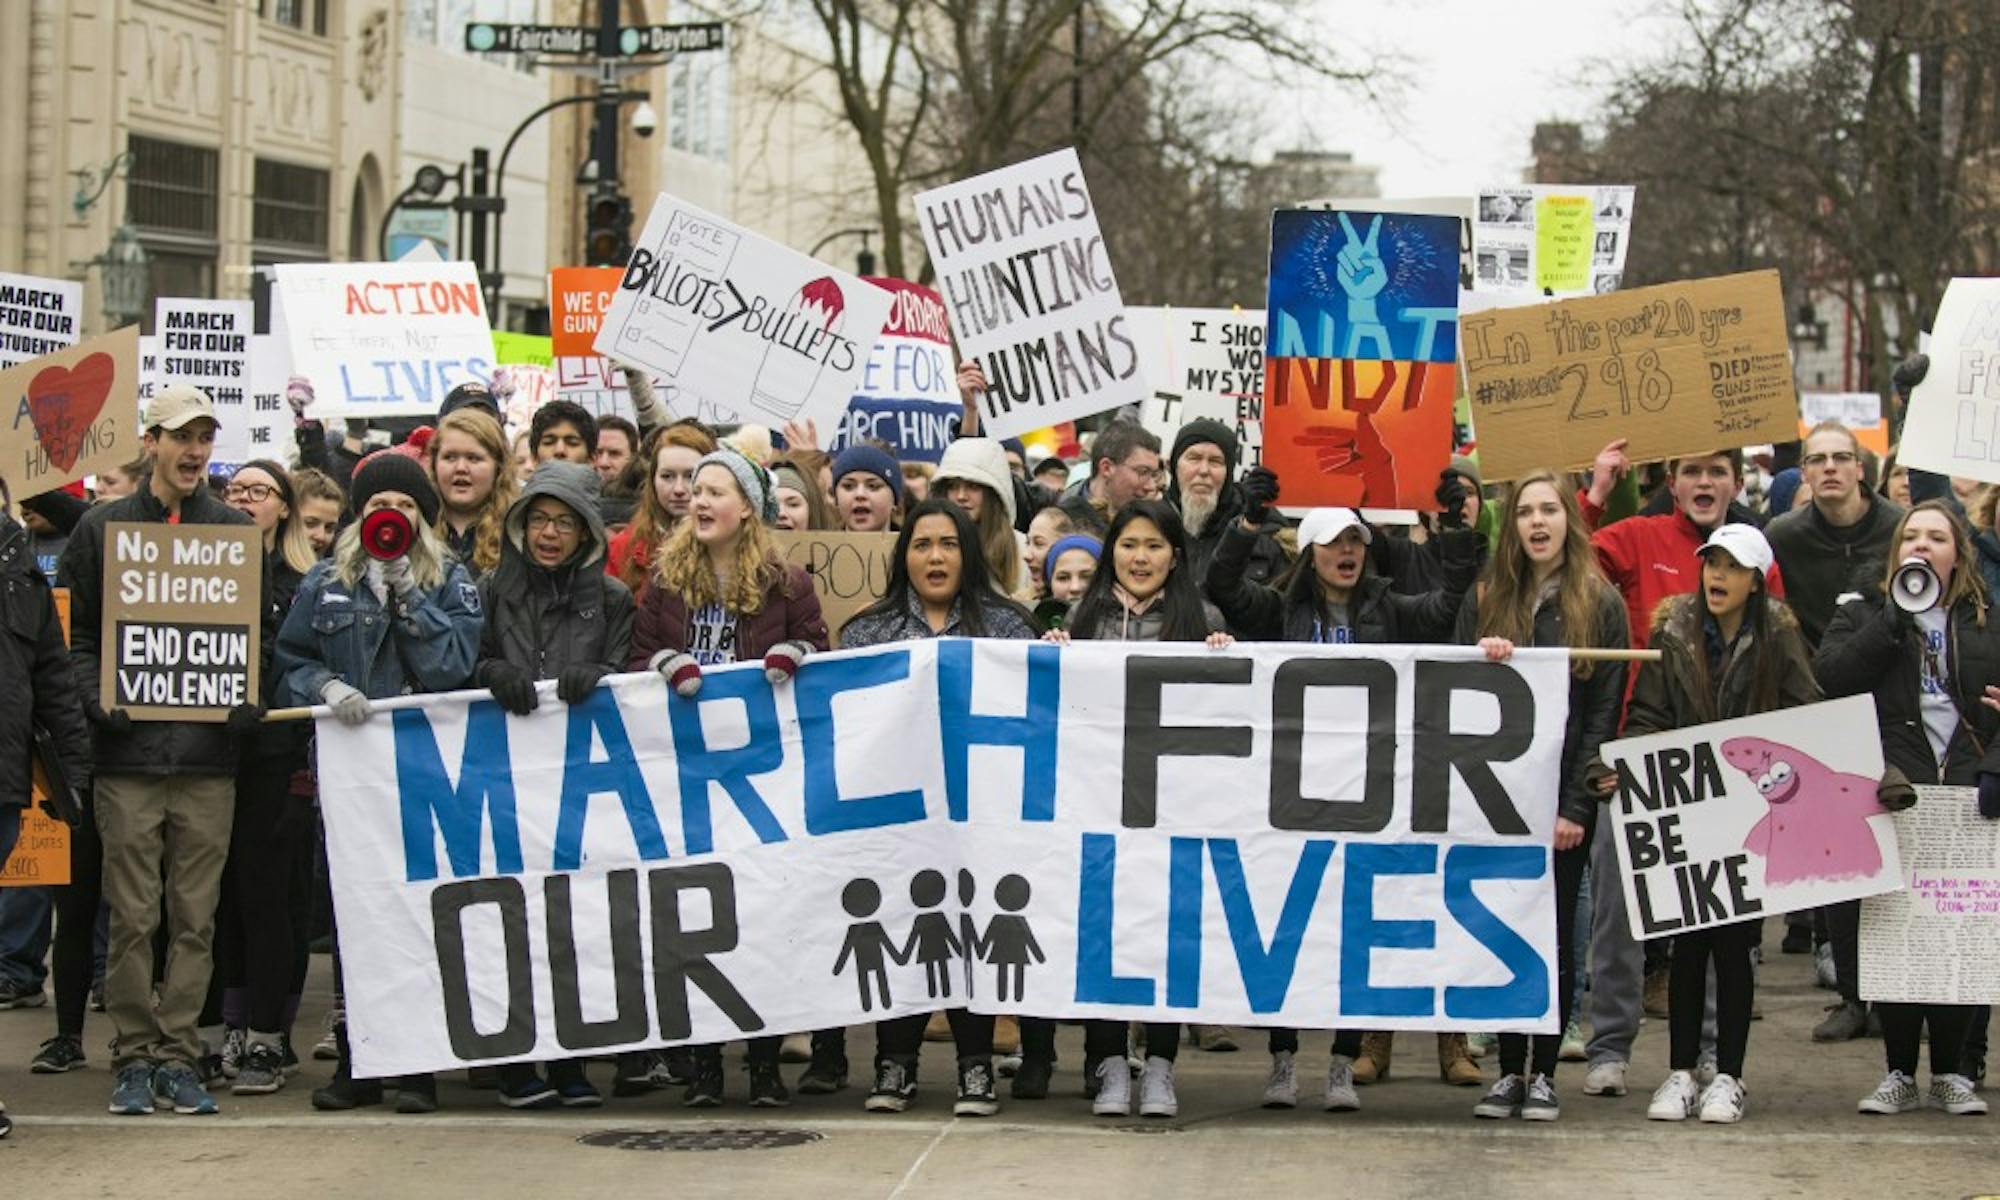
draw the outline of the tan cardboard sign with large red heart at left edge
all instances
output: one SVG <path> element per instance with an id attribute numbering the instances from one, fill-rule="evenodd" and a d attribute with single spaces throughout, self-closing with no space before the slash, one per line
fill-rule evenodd
<path id="1" fill-rule="evenodd" d="M 138 326 L 0 370 L 0 478 L 16 500 L 140 454 Z"/>

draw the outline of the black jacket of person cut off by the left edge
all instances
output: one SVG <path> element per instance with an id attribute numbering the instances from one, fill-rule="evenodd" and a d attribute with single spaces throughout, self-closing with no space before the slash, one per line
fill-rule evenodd
<path id="1" fill-rule="evenodd" d="M 56 742 L 70 786 L 90 794 L 90 724 L 70 682 L 70 652 L 28 530 L 0 512 L 0 808 L 28 804 L 34 726 Z"/>

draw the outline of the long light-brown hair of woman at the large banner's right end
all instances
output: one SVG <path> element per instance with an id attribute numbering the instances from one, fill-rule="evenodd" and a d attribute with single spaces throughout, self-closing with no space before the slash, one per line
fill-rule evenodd
<path id="1" fill-rule="evenodd" d="M 1494 544 L 1492 562 L 1486 564 L 1486 578 L 1480 580 L 1480 628 L 1482 638 L 1506 638 L 1516 646 L 1534 644 L 1534 610 L 1540 606 L 1542 588 L 1534 578 L 1534 564 L 1528 548 L 1520 540 L 1520 524 L 1514 510 L 1520 496 L 1534 484 L 1548 484 L 1562 504 L 1562 566 L 1556 568 L 1556 612 L 1562 616 L 1562 642 L 1570 650 L 1596 644 L 1598 602 L 1602 590 L 1610 588 L 1598 568 L 1598 554 L 1590 548 L 1590 532 L 1584 528 L 1584 514 L 1576 508 L 1576 496 L 1562 486 L 1550 470 L 1536 470 L 1514 480 L 1506 492 L 1506 506 L 1500 510 L 1500 538 Z M 1590 676 L 1590 662 L 1570 660 L 1570 672 L 1578 678 Z"/>

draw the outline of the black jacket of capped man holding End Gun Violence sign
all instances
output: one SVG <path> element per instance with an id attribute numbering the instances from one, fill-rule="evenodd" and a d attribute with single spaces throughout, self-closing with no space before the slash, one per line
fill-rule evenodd
<path id="1" fill-rule="evenodd" d="M 100 638 L 104 630 L 104 526 L 130 520 L 168 524 L 166 504 L 140 488 L 84 514 L 70 534 L 56 566 L 56 580 L 70 590 L 70 668 L 84 712 L 98 704 Z M 196 488 L 180 502 L 180 524 L 238 524 L 250 516 L 236 512 L 208 488 Z M 260 572 L 262 574 L 262 572 Z M 258 582 L 258 596 L 270 594 L 270 580 Z M 270 630 L 264 630 L 266 636 Z M 96 742 L 96 774 L 204 774 L 232 776 L 238 764 L 238 742 L 220 722 L 140 720 L 130 734 L 110 736 L 92 728 Z"/>

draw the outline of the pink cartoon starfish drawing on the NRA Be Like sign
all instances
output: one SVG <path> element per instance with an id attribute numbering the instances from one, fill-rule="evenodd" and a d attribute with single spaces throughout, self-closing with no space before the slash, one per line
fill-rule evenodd
<path id="1" fill-rule="evenodd" d="M 1850 880 L 1882 870 L 1882 846 L 1868 824 L 1888 812 L 1876 800 L 1876 780 L 1838 772 L 1766 738 L 1730 738 L 1722 758 L 1750 776 L 1770 806 L 1744 838 L 1744 850 L 1764 858 L 1764 884 Z"/>

